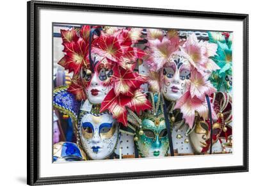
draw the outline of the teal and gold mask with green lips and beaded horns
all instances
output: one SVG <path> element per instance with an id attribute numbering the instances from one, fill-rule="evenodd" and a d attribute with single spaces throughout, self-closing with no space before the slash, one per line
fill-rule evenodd
<path id="1" fill-rule="evenodd" d="M 163 157 L 167 155 L 169 139 L 161 107 L 161 94 L 150 93 L 150 98 L 155 105 L 154 109 L 144 111 L 141 119 L 136 119 L 133 114 L 135 120 L 141 121 L 140 127 L 136 128 L 134 141 L 142 157 Z"/>

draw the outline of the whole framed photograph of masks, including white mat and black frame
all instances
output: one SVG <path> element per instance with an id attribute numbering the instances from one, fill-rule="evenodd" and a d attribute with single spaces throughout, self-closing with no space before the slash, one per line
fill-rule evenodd
<path id="1" fill-rule="evenodd" d="M 28 185 L 248 171 L 248 15 L 28 2 Z"/>

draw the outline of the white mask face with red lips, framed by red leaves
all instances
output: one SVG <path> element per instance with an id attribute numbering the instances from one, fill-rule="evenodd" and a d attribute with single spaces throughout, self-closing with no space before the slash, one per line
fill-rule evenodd
<path id="1" fill-rule="evenodd" d="M 95 63 L 93 72 L 88 66 L 81 70 L 81 78 L 85 87 L 87 98 L 91 104 L 101 104 L 111 86 L 113 70 L 111 63 L 106 58 Z"/>

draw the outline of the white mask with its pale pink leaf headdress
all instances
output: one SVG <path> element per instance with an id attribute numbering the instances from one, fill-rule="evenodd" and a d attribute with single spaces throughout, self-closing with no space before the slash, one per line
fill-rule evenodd
<path id="1" fill-rule="evenodd" d="M 217 45 L 199 41 L 195 33 L 186 40 L 180 39 L 175 31 L 165 34 L 162 31 L 161 34 L 159 29 L 150 29 L 148 35 L 146 63 L 150 70 L 159 74 L 159 91 L 166 100 L 176 102 L 174 109 L 180 109 L 189 128 L 193 128 L 195 111 L 200 117 L 209 118 L 206 97 L 216 89 L 208 78 L 213 70 L 219 69 L 211 59 L 216 54 Z M 156 86 L 153 79 L 148 83 Z M 212 120 L 216 119 L 212 105 L 211 112 Z"/>

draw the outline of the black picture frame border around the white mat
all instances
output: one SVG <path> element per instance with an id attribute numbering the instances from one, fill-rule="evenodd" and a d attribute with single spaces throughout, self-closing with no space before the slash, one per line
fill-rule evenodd
<path id="1" fill-rule="evenodd" d="M 179 169 L 166 171 L 147 171 L 133 173 L 110 173 L 77 176 L 40 178 L 39 171 L 39 15 L 40 8 L 52 10 L 79 10 L 114 12 L 127 14 L 164 15 L 193 17 L 200 19 L 224 19 L 243 21 L 243 166 L 205 167 L 198 169 Z M 158 8 L 138 8 L 98 4 L 57 3 L 47 1 L 28 2 L 28 185 L 56 183 L 79 183 L 137 178 L 157 178 L 166 176 L 186 176 L 195 174 L 235 173 L 248 171 L 248 15 L 238 13 L 198 12 L 167 10 Z"/>

